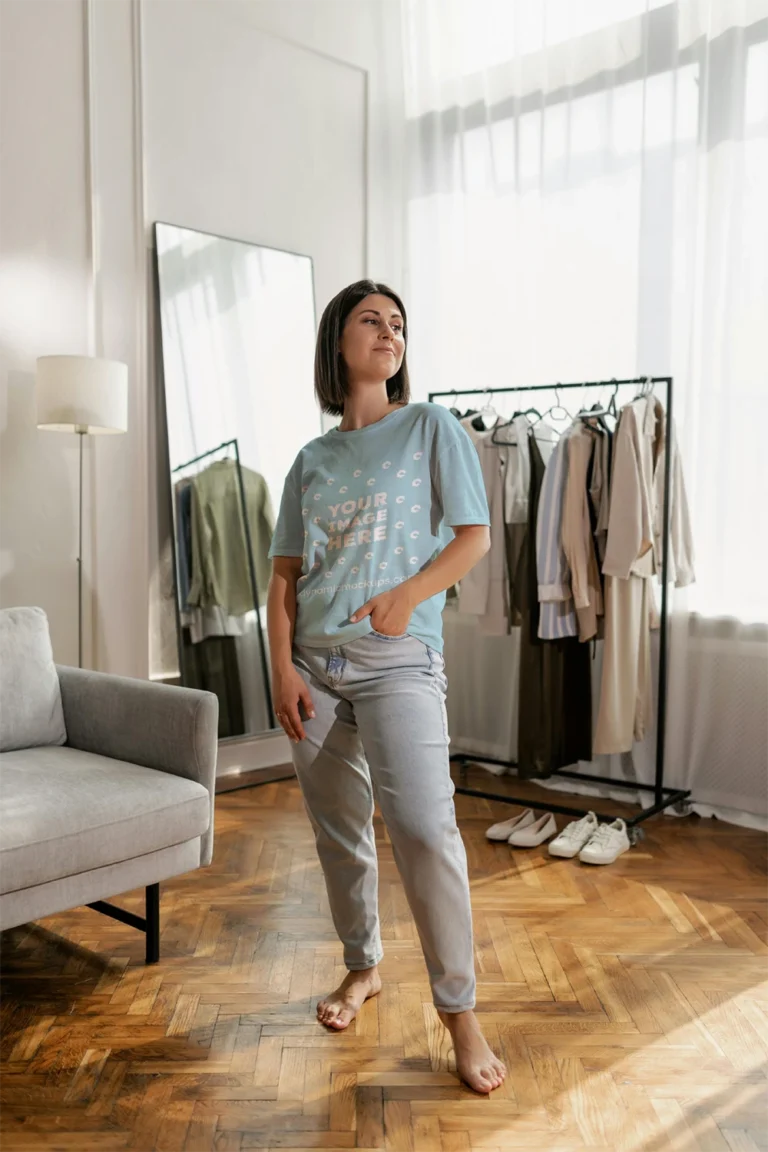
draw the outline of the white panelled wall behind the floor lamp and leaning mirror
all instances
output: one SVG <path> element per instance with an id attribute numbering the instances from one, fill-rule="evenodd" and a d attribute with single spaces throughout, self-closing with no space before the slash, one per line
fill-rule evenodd
<path id="1" fill-rule="evenodd" d="M 35 358 L 129 364 L 128 435 L 88 446 L 85 662 L 160 672 L 150 225 L 306 252 L 318 311 L 397 286 L 400 51 L 383 0 L 1 0 L 0 607 L 45 607 L 60 661 L 77 448 L 35 430 Z"/>

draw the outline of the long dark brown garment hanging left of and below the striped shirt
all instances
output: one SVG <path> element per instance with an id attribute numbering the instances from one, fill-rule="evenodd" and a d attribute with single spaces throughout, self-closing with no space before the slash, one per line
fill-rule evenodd
<path id="1" fill-rule="evenodd" d="M 510 596 L 522 617 L 518 773 L 530 780 L 546 779 L 560 768 L 591 758 L 592 681 L 587 644 L 576 637 L 539 638 L 539 613 L 545 606 L 538 599 L 535 540 L 545 462 L 533 435 L 529 446 L 529 525 L 518 563 L 520 578 Z"/>

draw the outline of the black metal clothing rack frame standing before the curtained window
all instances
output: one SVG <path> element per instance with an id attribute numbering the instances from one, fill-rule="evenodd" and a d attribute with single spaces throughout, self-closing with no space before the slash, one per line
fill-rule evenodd
<path id="1" fill-rule="evenodd" d="M 657 703 L 656 703 L 656 772 L 655 781 L 653 785 L 641 785 L 636 783 L 630 780 L 615 780 L 611 776 L 600 776 L 594 774 L 588 774 L 585 772 L 556 772 L 555 775 L 562 776 L 567 780 L 580 780 L 586 783 L 598 783 L 608 786 L 610 788 L 625 788 L 631 791 L 652 791 L 654 794 L 654 803 L 652 806 L 642 809 L 642 811 L 630 819 L 626 820 L 626 826 L 629 829 L 630 841 L 634 844 L 642 836 L 642 832 L 639 827 L 645 820 L 649 819 L 652 816 L 656 816 L 659 812 L 663 812 L 668 808 L 683 809 L 685 802 L 689 799 L 691 793 L 685 791 L 680 788 L 670 788 L 664 783 L 664 743 L 667 734 L 667 659 L 668 659 L 668 645 L 669 645 L 669 518 L 670 518 L 670 491 L 671 491 L 671 438 L 672 438 L 672 377 L 637 377 L 630 380 L 587 380 L 576 384 L 539 384 L 531 386 L 519 386 L 519 387 L 508 387 L 508 388 L 470 388 L 466 391 L 449 391 L 449 392 L 431 392 L 429 400 L 434 401 L 439 396 L 454 396 L 458 397 L 465 396 L 494 396 L 494 395 L 510 395 L 514 393 L 531 393 L 531 392 L 549 392 L 555 393 L 555 396 L 560 392 L 567 389 L 580 388 L 586 391 L 587 388 L 625 388 L 625 387 L 638 387 L 640 385 L 664 385 L 667 389 L 667 446 L 664 452 L 664 502 L 663 502 L 663 516 L 662 516 L 662 560 L 661 560 L 661 623 L 659 630 L 659 684 L 657 684 Z M 495 764 L 500 767 L 512 768 L 516 764 L 510 760 L 496 760 L 488 756 L 469 756 L 466 753 L 457 752 L 451 756 L 451 761 L 457 764 L 461 770 L 461 787 L 456 788 L 456 791 L 463 796 L 478 796 L 482 799 L 495 799 L 501 801 L 504 804 L 520 804 L 526 808 L 533 808 L 540 811 L 557 812 L 560 816 L 573 816 L 583 817 L 586 816 L 590 809 L 586 808 L 569 808 L 560 804 L 545 803 L 542 801 L 532 801 L 527 797 L 522 798 L 519 796 L 501 795 L 500 793 L 485 791 L 478 788 L 466 787 L 466 768 L 469 764 Z M 600 816 L 600 820 L 609 821 L 615 819 L 613 816 Z"/>

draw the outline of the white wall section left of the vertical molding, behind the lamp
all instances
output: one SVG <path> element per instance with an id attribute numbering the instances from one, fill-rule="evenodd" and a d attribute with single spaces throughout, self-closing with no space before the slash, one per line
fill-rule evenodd
<path id="1" fill-rule="evenodd" d="M 37 432 L 33 371 L 88 342 L 82 5 L 30 8 L 0 7 L 0 605 L 41 604 L 76 659 L 77 449 Z"/>

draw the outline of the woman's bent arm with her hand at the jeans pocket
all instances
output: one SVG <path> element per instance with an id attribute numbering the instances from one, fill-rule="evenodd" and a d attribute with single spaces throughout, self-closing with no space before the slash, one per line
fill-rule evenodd
<path id="1" fill-rule="evenodd" d="M 438 592 L 444 592 L 466 576 L 489 547 L 491 529 L 485 524 L 461 524 L 454 528 L 454 539 L 436 560 L 390 592 L 374 596 L 350 620 L 355 623 L 371 616 L 371 623 L 378 632 L 402 636 L 408 631 L 416 606 Z"/>

